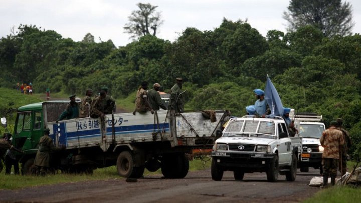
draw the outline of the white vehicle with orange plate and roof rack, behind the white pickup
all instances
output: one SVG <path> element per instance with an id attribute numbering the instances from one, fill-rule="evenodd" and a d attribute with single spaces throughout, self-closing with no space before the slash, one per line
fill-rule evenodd
<path id="1" fill-rule="evenodd" d="M 290 115 L 295 119 L 298 135 L 302 137 L 302 156 L 298 162 L 301 172 L 308 172 L 309 167 L 320 169 L 322 174 L 323 147 L 320 143 L 322 132 L 326 129 L 321 122 L 322 115 L 315 113 L 298 113 Z"/>

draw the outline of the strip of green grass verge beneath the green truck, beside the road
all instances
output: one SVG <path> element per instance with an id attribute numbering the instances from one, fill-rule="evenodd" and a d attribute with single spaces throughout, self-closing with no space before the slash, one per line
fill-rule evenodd
<path id="1" fill-rule="evenodd" d="M 190 171 L 203 170 L 210 167 L 210 161 L 204 162 L 202 160 L 190 161 Z M 107 168 L 100 168 L 94 170 L 93 175 L 74 175 L 74 174 L 63 174 L 48 175 L 45 177 L 41 176 L 20 176 L 20 175 L 5 175 L 5 168 L 0 173 L 0 189 L 21 189 L 33 186 L 50 185 L 58 183 L 73 183 L 81 181 L 92 181 L 92 180 L 109 180 L 109 179 L 122 179 L 117 173 L 116 166 Z M 14 172 L 12 170 L 12 172 Z M 149 172 L 145 169 L 144 176 L 151 174 L 161 174 L 160 169 L 156 172 Z"/>

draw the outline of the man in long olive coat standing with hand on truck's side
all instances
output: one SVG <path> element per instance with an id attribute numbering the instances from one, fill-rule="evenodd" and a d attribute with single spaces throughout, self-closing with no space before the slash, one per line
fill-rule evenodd
<path id="1" fill-rule="evenodd" d="M 55 147 L 53 140 L 49 137 L 49 134 L 49 128 L 44 129 L 44 136 L 42 136 L 39 140 L 39 149 L 34 160 L 36 175 L 45 176 L 50 171 L 50 152 L 59 151 L 65 148 L 64 146 Z"/>

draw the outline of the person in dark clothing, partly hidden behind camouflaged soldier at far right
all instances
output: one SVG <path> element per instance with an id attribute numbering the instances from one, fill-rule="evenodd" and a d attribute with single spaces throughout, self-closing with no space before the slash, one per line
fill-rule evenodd
<path id="1" fill-rule="evenodd" d="M 348 149 L 351 147 L 352 143 L 348 131 L 342 127 L 343 119 L 337 118 L 336 121 L 337 121 L 337 128 L 341 130 L 343 139 L 345 141 L 345 144 L 342 145 L 341 147 L 341 161 L 339 163 L 340 172 L 342 175 L 344 175 L 347 172 L 347 152 Z"/>

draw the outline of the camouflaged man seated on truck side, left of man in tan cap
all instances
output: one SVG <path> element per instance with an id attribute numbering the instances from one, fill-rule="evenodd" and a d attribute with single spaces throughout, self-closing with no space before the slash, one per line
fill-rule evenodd
<path id="1" fill-rule="evenodd" d="M 146 113 L 147 111 L 150 111 L 152 114 L 154 113 L 154 110 L 149 104 L 148 93 L 146 91 L 147 89 L 148 89 L 148 82 L 143 81 L 141 83 L 141 87 L 139 87 L 137 91 L 136 100 L 135 100 L 135 110 L 133 112 L 133 115 L 135 115 L 136 112 Z"/>

